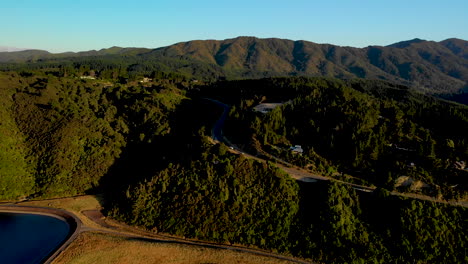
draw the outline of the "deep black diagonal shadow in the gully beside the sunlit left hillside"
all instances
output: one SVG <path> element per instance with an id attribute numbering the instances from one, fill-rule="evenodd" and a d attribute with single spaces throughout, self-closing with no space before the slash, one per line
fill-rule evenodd
<path id="1" fill-rule="evenodd" d="M 139 132 L 130 133 L 120 157 L 89 193 L 102 193 L 99 202 L 109 209 L 111 203 L 124 202 L 131 186 L 151 179 L 169 164 L 189 164 L 201 153 L 200 133 L 209 134 L 219 115 L 214 105 L 203 99 L 184 100 L 169 114 L 170 133 L 155 136 L 151 142 L 138 140 Z M 204 132 L 202 127 L 205 126 Z M 145 134 L 149 134 L 148 133 Z"/>

